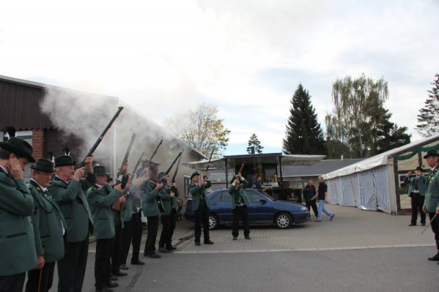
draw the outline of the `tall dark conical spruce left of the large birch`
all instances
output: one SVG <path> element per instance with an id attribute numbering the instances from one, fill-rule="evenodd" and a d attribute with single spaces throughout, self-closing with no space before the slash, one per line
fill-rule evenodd
<path id="1" fill-rule="evenodd" d="M 285 154 L 326 154 L 322 127 L 310 99 L 307 90 L 299 84 L 290 101 L 291 115 L 283 139 Z"/>

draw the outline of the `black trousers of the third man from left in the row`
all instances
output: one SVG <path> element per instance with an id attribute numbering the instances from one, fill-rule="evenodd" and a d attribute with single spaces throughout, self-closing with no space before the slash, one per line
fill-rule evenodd
<path id="1" fill-rule="evenodd" d="M 58 292 L 81 292 L 87 266 L 88 236 L 84 241 L 66 243 L 65 254 L 58 260 Z"/>

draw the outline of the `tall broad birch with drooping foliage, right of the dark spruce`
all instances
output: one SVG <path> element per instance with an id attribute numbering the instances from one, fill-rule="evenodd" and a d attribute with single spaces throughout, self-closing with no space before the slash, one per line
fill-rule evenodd
<path id="1" fill-rule="evenodd" d="M 349 155 L 363 157 L 367 147 L 376 154 L 378 125 L 383 117 L 378 114 L 383 102 L 388 99 L 387 82 L 381 78 L 374 81 L 364 74 L 352 80 L 351 76 L 336 80 L 333 84 L 333 113 L 327 114 L 327 141 L 338 141 L 346 145 Z M 329 143 L 329 146 L 337 143 Z M 333 149 L 328 149 L 333 152 Z"/>

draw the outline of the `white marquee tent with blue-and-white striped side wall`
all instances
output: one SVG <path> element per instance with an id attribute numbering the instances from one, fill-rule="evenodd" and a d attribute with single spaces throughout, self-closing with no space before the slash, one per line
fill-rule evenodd
<path id="1" fill-rule="evenodd" d="M 328 185 L 329 202 L 396 214 L 395 157 L 438 141 L 439 134 L 322 175 Z"/>

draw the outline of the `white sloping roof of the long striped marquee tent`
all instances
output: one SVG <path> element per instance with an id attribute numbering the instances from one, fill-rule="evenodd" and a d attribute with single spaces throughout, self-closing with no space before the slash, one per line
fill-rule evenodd
<path id="1" fill-rule="evenodd" d="M 415 141 L 413 143 L 409 143 L 407 145 L 403 145 L 401 147 L 391 149 L 389 151 L 385 151 L 381 154 L 372 156 L 371 158 L 361 160 L 353 165 L 348 165 L 347 167 L 343 167 L 341 169 L 337 169 L 325 175 L 322 175 L 324 179 L 328 180 L 331 178 L 337 178 L 339 176 L 350 175 L 352 173 L 357 173 L 361 171 L 366 171 L 368 169 L 373 169 L 375 167 L 379 167 L 381 165 L 388 165 L 388 159 L 394 158 L 395 156 L 404 154 L 409 151 L 414 151 L 418 147 L 423 145 L 427 145 L 434 141 L 439 140 L 439 134 L 429 136 L 428 138 L 423 138 L 419 141 Z"/>

